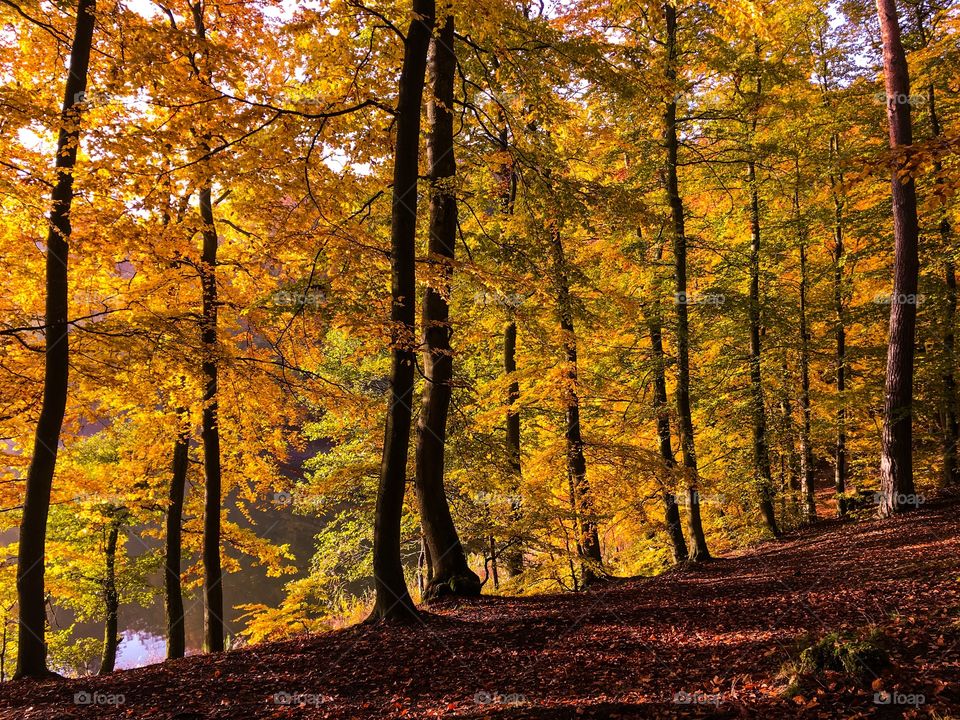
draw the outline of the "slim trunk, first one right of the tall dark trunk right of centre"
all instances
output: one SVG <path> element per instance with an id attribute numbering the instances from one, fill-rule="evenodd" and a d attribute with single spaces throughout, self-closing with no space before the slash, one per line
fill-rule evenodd
<path id="1" fill-rule="evenodd" d="M 759 84 L 759 83 L 758 83 Z M 753 467 L 760 495 L 760 514 L 767 529 L 780 537 L 773 510 L 773 477 L 770 472 L 770 449 L 767 444 L 767 414 L 763 397 L 760 347 L 760 197 L 757 191 L 757 168 L 747 163 L 750 186 L 750 399 L 753 414 Z"/>

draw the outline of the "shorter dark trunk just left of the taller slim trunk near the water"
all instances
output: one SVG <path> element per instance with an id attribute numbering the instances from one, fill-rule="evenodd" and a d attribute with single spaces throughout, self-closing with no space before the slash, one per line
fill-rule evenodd
<path id="1" fill-rule="evenodd" d="M 178 412 L 178 417 L 182 413 Z M 173 446 L 173 469 L 167 504 L 166 544 L 164 551 L 164 591 L 167 613 L 167 658 L 181 658 L 186 653 L 183 592 L 180 588 L 182 556 L 183 499 L 187 486 L 189 430 L 181 429 Z"/>

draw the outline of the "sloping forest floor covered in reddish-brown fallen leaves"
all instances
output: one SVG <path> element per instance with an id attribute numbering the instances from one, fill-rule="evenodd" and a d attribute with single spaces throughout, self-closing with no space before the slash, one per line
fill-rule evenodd
<path id="1" fill-rule="evenodd" d="M 803 638 L 870 629 L 889 667 L 787 689 Z M 447 604 L 415 627 L 0 686 L 4 720 L 401 717 L 960 718 L 960 505 L 822 521 L 586 593 Z"/>

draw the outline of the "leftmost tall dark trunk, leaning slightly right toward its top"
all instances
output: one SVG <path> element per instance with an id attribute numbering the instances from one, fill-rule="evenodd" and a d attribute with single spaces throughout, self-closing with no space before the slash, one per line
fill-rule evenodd
<path id="1" fill-rule="evenodd" d="M 57 181 L 50 196 L 50 227 L 47 232 L 46 262 L 46 367 L 43 401 L 33 445 L 33 459 L 27 471 L 20 544 L 17 557 L 17 601 L 19 630 L 15 677 L 42 677 L 47 670 L 47 624 L 44 594 L 44 555 L 47 542 L 47 514 L 57 464 L 57 448 L 67 407 L 69 378 L 68 332 L 68 246 L 70 209 L 73 204 L 73 168 L 80 144 L 80 101 L 87 87 L 87 68 L 96 23 L 95 0 L 79 0 L 77 21 L 70 50 L 66 89 L 60 115 L 55 166 Z"/>

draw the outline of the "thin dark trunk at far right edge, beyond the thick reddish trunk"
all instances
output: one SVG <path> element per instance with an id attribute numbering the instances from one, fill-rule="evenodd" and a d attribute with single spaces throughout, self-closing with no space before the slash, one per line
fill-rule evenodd
<path id="1" fill-rule="evenodd" d="M 940 117 L 937 114 L 937 99 L 933 84 L 927 91 L 927 103 L 930 111 L 930 129 L 934 138 L 940 137 Z M 933 174 L 938 186 L 945 182 L 943 163 L 939 158 L 933 162 Z M 950 257 L 952 230 L 947 218 L 946 208 L 940 208 L 940 247 Z M 954 351 L 954 324 L 957 315 L 957 275 L 952 260 L 943 264 L 944 290 L 946 303 L 943 317 L 943 482 L 945 485 L 960 484 L 960 465 L 957 462 L 957 443 L 960 441 L 960 422 L 957 420 L 957 381 L 953 367 L 956 362 Z"/>

